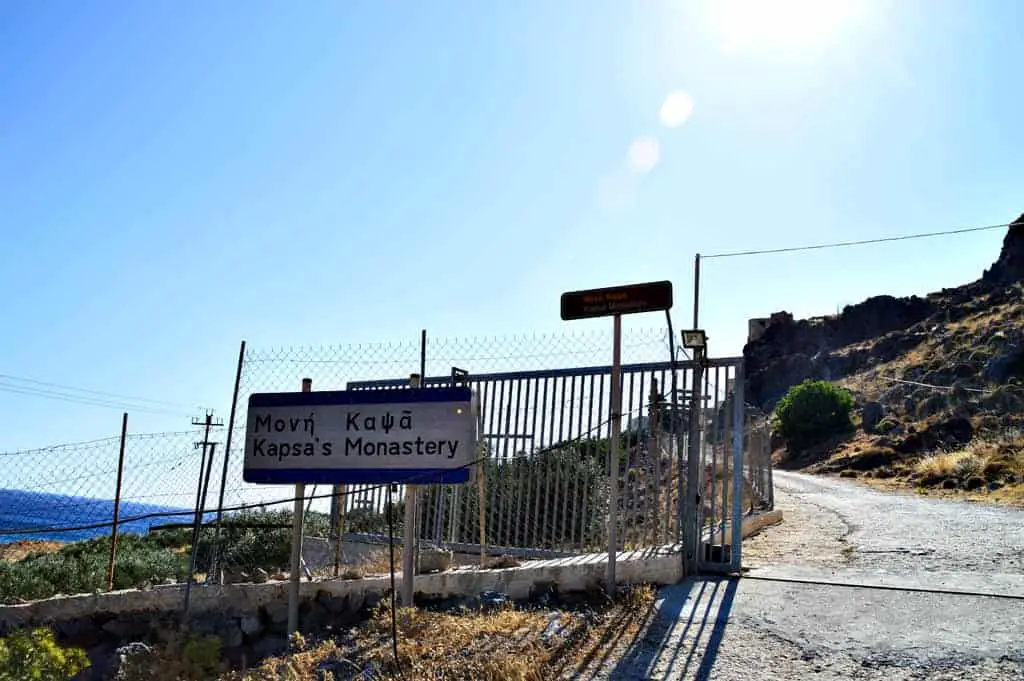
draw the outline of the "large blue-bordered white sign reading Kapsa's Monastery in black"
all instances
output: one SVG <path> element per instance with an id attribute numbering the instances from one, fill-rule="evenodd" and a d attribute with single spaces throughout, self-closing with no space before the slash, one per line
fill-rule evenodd
<path id="1" fill-rule="evenodd" d="M 249 396 L 242 477 L 263 484 L 465 482 L 478 458 L 467 387 Z"/>

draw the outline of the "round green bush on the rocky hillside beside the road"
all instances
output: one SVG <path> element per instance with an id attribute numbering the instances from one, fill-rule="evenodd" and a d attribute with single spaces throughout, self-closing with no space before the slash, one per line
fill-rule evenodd
<path id="1" fill-rule="evenodd" d="M 801 451 L 853 431 L 853 395 L 828 381 L 807 380 L 790 388 L 775 408 L 772 429 Z"/>

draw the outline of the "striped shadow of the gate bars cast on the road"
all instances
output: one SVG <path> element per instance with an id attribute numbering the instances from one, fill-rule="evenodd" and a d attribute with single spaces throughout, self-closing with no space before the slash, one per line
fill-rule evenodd
<path id="1" fill-rule="evenodd" d="M 657 607 L 651 607 L 642 623 L 609 628 L 607 640 L 592 648 L 600 654 L 585 661 L 580 669 L 586 671 L 573 678 L 708 681 L 737 588 L 735 578 L 698 577 L 663 589 Z"/>

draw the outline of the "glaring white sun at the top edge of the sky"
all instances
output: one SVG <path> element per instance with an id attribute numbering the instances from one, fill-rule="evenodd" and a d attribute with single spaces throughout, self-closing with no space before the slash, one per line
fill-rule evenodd
<path id="1" fill-rule="evenodd" d="M 800 50 L 823 46 L 859 18 L 864 0 L 718 0 L 722 49 Z"/>

